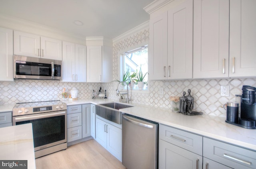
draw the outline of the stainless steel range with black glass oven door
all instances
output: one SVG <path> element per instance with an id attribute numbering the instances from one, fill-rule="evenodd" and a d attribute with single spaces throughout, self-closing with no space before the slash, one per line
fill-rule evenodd
<path id="1" fill-rule="evenodd" d="M 12 124 L 32 123 L 35 157 L 67 148 L 67 105 L 59 100 L 18 103 Z"/>

